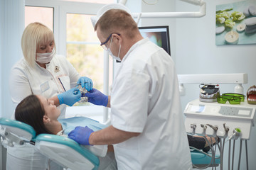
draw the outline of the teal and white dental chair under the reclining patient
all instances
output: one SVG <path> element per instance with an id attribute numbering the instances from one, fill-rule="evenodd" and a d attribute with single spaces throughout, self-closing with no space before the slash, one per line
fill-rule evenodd
<path id="1" fill-rule="evenodd" d="M 65 169 L 97 170 L 100 160 L 89 149 L 81 147 L 68 137 L 41 134 L 36 136 L 35 130 L 26 123 L 17 120 L 0 118 L 0 136 L 4 147 L 18 147 L 20 145 L 35 145 L 41 154 L 57 162 Z M 209 154 L 208 154 L 209 155 Z M 191 159 L 194 167 L 218 166 L 220 159 L 212 158 L 196 149 L 191 149 Z M 217 156 L 215 156 L 217 157 Z"/>

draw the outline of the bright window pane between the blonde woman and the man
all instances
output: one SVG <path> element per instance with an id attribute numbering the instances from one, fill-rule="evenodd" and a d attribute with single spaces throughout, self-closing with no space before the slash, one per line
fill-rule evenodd
<path id="1" fill-rule="evenodd" d="M 67 14 L 67 58 L 81 76 L 103 90 L 103 49 L 90 21 L 91 15 Z"/>

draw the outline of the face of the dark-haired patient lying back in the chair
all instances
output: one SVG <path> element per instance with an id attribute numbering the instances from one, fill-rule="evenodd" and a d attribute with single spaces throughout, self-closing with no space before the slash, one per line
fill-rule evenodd
<path id="1" fill-rule="evenodd" d="M 41 102 L 46 115 L 51 120 L 57 120 L 60 115 L 60 110 L 54 105 L 54 102 L 48 100 L 44 96 L 37 95 L 37 97 L 39 98 L 39 101 Z"/>

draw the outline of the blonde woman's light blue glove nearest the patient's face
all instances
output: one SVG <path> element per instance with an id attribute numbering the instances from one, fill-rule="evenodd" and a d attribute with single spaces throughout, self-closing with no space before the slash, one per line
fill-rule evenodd
<path id="1" fill-rule="evenodd" d="M 60 101 L 60 105 L 66 104 L 68 106 L 73 106 L 73 104 L 81 100 L 81 92 L 78 88 L 73 88 L 62 94 L 58 94 L 57 97 Z"/>

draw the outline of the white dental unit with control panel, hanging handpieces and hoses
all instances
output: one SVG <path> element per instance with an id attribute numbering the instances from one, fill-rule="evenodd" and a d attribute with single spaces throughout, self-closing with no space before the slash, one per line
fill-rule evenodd
<path id="1" fill-rule="evenodd" d="M 184 110 L 186 116 L 185 126 L 186 132 L 191 135 L 209 136 L 220 139 L 217 143 L 219 148 L 219 154 L 216 154 L 216 150 L 211 146 L 212 164 L 215 159 L 220 159 L 220 169 L 223 169 L 223 152 L 226 142 L 229 144 L 228 149 L 228 169 L 234 169 L 235 162 L 238 162 L 238 169 L 240 169 L 242 141 L 245 141 L 246 147 L 246 166 L 248 169 L 247 160 L 247 140 L 250 140 L 250 132 L 252 127 L 255 126 L 255 114 L 256 106 L 249 104 L 249 101 L 243 101 L 244 95 L 241 84 L 247 84 L 247 74 L 185 74 L 178 75 L 180 84 L 238 84 L 235 86 L 235 93 L 229 93 L 228 95 L 242 96 L 241 102 L 230 104 L 218 103 L 218 102 L 203 102 L 199 98 L 187 103 Z M 249 93 L 253 93 L 254 87 Z M 184 89 L 182 89 L 182 94 Z M 248 94 L 247 94 L 248 95 Z M 223 95 L 225 96 L 225 94 Z M 238 161 L 235 161 L 235 141 L 240 139 L 240 151 Z M 217 141 L 217 140 L 216 140 Z M 231 145 L 233 142 L 233 153 L 231 155 Z M 216 147 L 216 146 L 215 146 Z M 230 159 L 232 158 L 232 162 Z M 205 166 L 207 167 L 207 166 Z"/>

